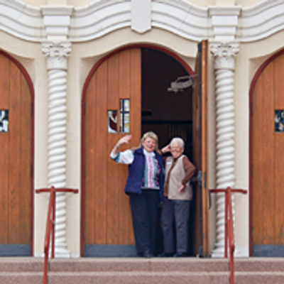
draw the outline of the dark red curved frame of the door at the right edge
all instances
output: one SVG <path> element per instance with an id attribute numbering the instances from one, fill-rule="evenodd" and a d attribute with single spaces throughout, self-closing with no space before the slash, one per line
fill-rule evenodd
<path id="1" fill-rule="evenodd" d="M 284 49 L 279 50 L 277 53 L 268 58 L 261 67 L 258 68 L 256 74 L 251 81 L 251 87 L 249 89 L 249 256 L 253 256 L 253 92 L 258 82 L 258 78 L 261 76 L 263 70 L 278 56 L 283 55 Z"/>

